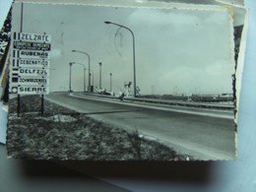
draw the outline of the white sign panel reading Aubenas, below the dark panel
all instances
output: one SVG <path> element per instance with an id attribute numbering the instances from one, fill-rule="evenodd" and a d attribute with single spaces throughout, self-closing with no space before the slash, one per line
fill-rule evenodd
<path id="1" fill-rule="evenodd" d="M 13 50 L 13 58 L 22 59 L 49 59 L 50 54 L 41 50 Z"/>

